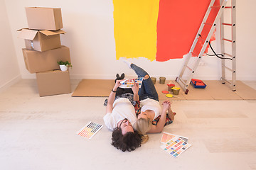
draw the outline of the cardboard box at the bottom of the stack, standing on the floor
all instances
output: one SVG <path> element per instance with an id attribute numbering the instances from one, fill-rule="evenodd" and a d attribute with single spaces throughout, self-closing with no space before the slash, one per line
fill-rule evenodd
<path id="1" fill-rule="evenodd" d="M 70 74 L 60 69 L 36 73 L 39 96 L 70 94 Z"/>

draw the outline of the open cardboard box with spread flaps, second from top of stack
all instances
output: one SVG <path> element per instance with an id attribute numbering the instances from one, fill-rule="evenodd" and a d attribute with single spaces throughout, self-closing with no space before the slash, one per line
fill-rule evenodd
<path id="1" fill-rule="evenodd" d="M 25 39 L 26 49 L 36 51 L 47 51 L 61 46 L 60 34 L 64 34 L 64 30 L 29 30 L 23 28 L 18 30 L 18 38 Z"/>

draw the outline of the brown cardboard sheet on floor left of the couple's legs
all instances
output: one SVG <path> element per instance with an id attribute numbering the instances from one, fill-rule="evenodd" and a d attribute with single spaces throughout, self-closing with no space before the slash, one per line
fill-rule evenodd
<path id="1" fill-rule="evenodd" d="M 73 97 L 108 97 L 114 87 L 110 79 L 82 79 L 73 92 Z"/>

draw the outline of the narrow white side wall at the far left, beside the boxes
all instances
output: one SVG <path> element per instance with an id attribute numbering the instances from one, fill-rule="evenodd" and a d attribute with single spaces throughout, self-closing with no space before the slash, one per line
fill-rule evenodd
<path id="1" fill-rule="evenodd" d="M 0 91 L 21 79 L 4 0 L 0 0 Z"/>

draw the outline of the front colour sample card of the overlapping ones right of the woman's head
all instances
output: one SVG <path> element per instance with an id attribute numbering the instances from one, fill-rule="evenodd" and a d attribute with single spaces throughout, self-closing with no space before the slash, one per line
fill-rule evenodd
<path id="1" fill-rule="evenodd" d="M 185 142 L 180 137 L 173 137 L 171 140 L 166 142 L 166 144 L 161 145 L 161 149 L 164 149 L 165 152 L 171 154 L 173 157 L 178 157 L 182 154 L 188 147 L 191 147 L 191 144 Z"/>

